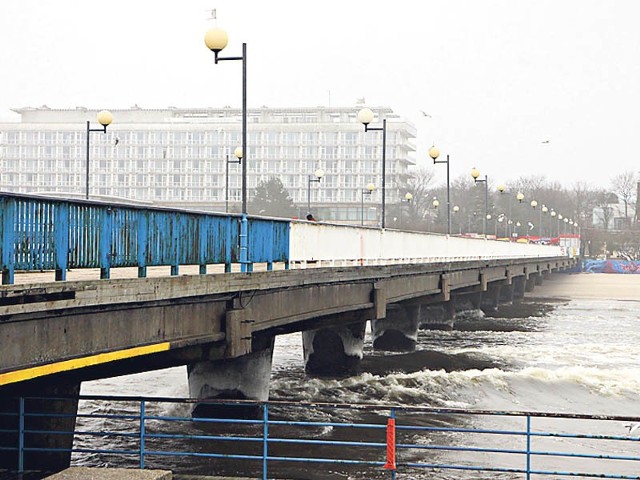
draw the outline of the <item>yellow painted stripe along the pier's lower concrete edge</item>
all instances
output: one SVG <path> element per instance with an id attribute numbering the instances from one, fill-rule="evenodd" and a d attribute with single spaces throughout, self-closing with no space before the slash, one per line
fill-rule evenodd
<path id="1" fill-rule="evenodd" d="M 16 370 L 15 372 L 0 373 L 0 385 L 9 383 L 23 382 L 33 378 L 52 375 L 54 373 L 67 372 L 69 370 L 77 370 L 79 368 L 91 367 L 102 363 L 114 362 L 125 358 L 139 357 L 141 355 L 149 355 L 151 353 L 165 352 L 169 350 L 171 344 L 169 342 L 156 343 L 154 345 L 146 345 L 144 347 L 127 348 L 109 353 L 100 353 L 98 355 L 90 355 L 88 357 L 74 358 L 73 360 L 65 360 L 63 362 L 51 363 L 49 365 L 41 365 L 39 367 L 25 368 L 24 370 Z"/>

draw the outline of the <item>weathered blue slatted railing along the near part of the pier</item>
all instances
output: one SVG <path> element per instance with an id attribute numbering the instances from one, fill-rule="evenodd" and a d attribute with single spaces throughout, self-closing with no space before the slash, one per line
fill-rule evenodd
<path id="1" fill-rule="evenodd" d="M 65 280 L 71 268 L 110 269 L 238 263 L 240 216 L 188 212 L 116 203 L 0 194 L 0 269 L 12 284 L 16 270 L 55 270 Z M 253 263 L 289 261 L 287 220 L 248 217 L 246 270 Z M 244 270 L 243 270 L 244 271 Z"/>

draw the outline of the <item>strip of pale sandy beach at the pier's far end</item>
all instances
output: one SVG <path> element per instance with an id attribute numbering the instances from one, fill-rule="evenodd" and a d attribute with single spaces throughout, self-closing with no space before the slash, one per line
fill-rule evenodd
<path id="1" fill-rule="evenodd" d="M 591 298 L 640 301 L 640 275 L 555 273 L 527 293 L 531 298 Z"/>

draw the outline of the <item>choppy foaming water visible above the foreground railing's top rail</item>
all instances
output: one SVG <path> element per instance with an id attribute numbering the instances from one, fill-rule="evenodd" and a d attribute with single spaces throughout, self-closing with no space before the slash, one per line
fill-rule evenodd
<path id="1" fill-rule="evenodd" d="M 341 379 L 306 376 L 300 334 L 284 335 L 276 340 L 270 396 L 273 400 L 640 416 L 639 307 L 639 302 L 632 301 L 527 299 L 520 306 L 500 307 L 492 317 L 465 312 L 451 331 L 420 331 L 418 350 L 413 353 L 374 352 L 368 343 L 362 372 Z M 186 381 L 186 369 L 173 368 L 88 382 L 82 393 L 187 397 Z M 490 426 L 491 421 L 487 422 Z M 594 433 L 624 435 L 622 425 L 607 428 L 613 431 Z M 207 462 L 198 462 L 190 459 L 188 468 L 180 468 L 208 473 Z M 562 467 L 570 470 L 570 461 Z M 358 476 L 357 471 L 288 475 L 371 478 Z M 522 477 L 454 472 L 412 478 Z"/>

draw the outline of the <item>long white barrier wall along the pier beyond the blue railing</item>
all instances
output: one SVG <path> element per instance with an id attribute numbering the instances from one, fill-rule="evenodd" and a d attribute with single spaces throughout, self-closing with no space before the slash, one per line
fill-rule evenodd
<path id="1" fill-rule="evenodd" d="M 566 255 L 566 248 L 551 245 L 291 222 L 289 258 L 294 263 L 384 264 Z"/>

